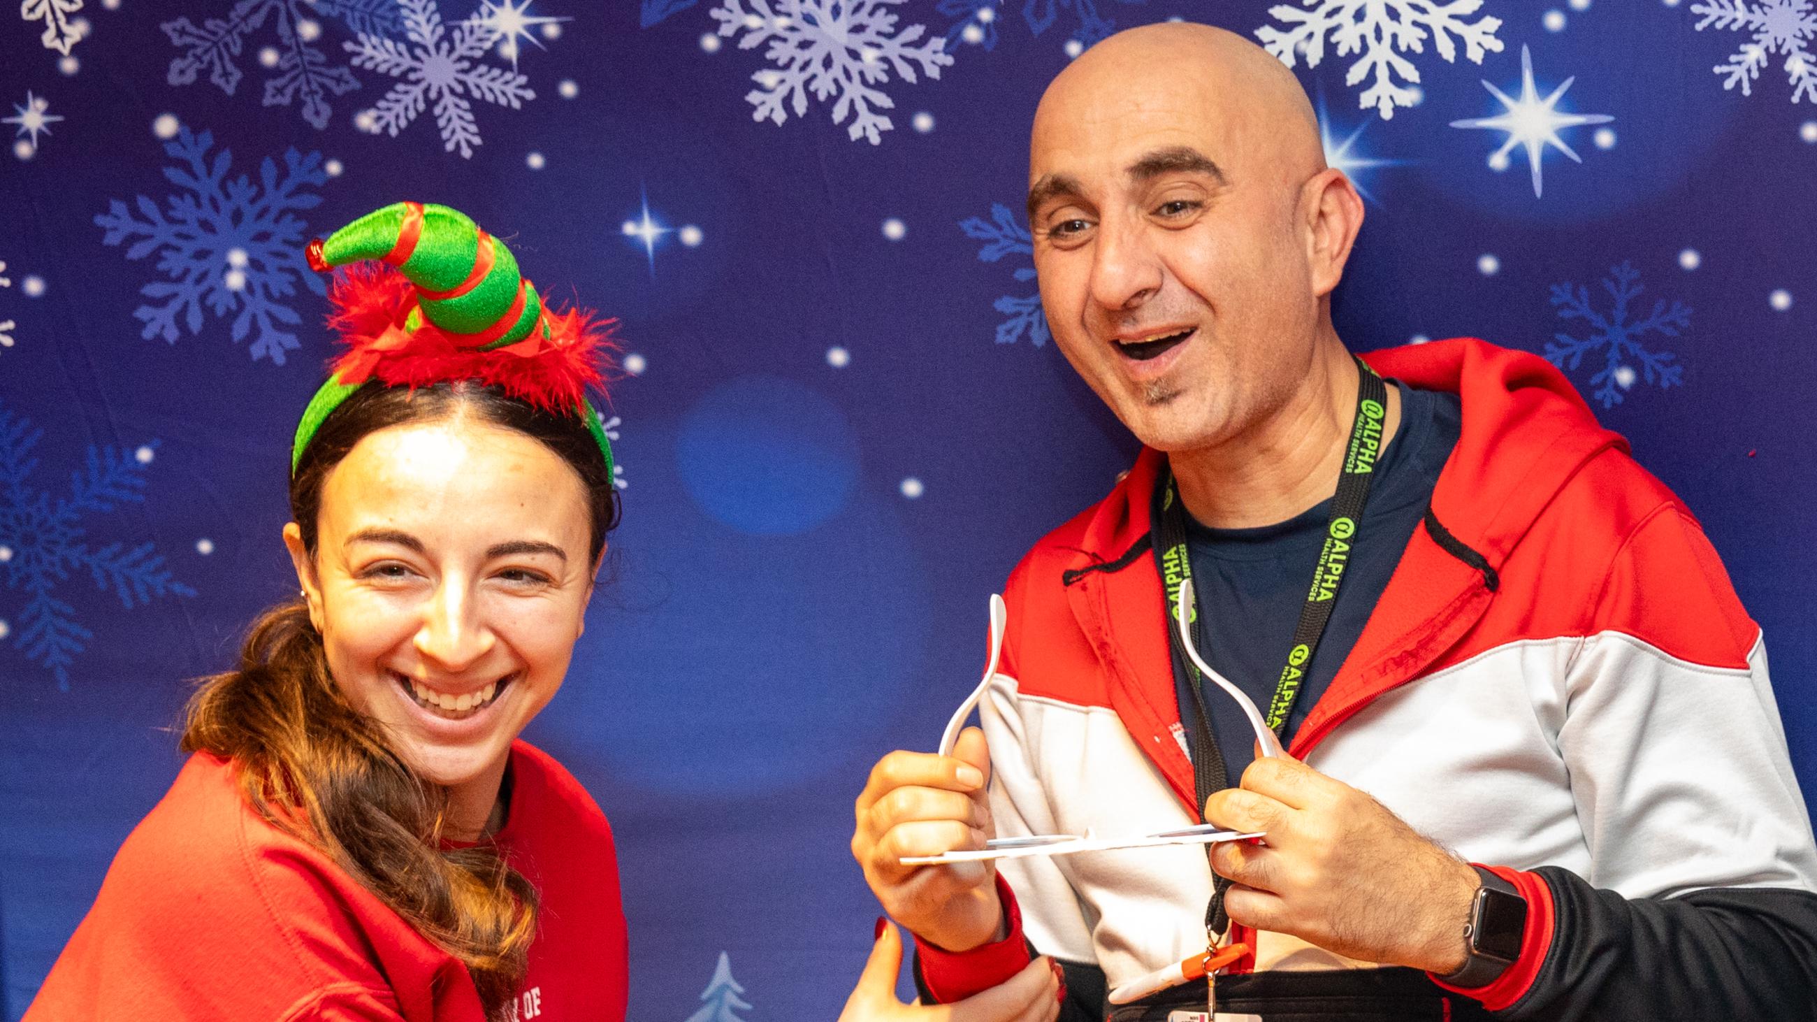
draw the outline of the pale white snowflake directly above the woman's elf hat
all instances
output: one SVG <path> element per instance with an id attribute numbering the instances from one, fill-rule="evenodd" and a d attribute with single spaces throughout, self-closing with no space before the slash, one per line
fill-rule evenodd
<path id="1" fill-rule="evenodd" d="M 358 42 L 343 44 L 352 53 L 354 67 L 403 78 L 372 107 L 372 131 L 396 136 L 423 113 L 427 98 L 434 96 L 442 149 L 460 149 L 462 158 L 471 160 L 472 147 L 480 145 L 480 125 L 467 95 L 520 109 L 536 93 L 523 75 L 474 62 L 498 42 L 498 35 L 485 24 L 467 20 L 447 29 L 436 0 L 398 0 L 398 7 L 414 49 L 371 33 L 360 33 Z"/>

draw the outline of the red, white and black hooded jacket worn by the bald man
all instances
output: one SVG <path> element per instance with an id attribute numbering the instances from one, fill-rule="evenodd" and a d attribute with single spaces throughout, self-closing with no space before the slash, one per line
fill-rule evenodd
<path id="1" fill-rule="evenodd" d="M 1761 629 L 1697 520 L 1543 358 L 1468 338 L 1363 358 L 1461 395 L 1463 431 L 1288 751 L 1526 895 L 1519 960 L 1463 991 L 1484 1007 L 1813 1017 L 1817 847 Z M 1150 555 L 1163 467 L 1143 451 L 1010 575 L 981 713 L 998 837 L 1199 820 Z M 1205 949 L 1199 847 L 1010 860 L 1001 880 L 1018 931 L 923 946 L 936 998 L 1028 946 L 1108 986 Z M 1257 971 L 1372 967 L 1254 937 Z"/>

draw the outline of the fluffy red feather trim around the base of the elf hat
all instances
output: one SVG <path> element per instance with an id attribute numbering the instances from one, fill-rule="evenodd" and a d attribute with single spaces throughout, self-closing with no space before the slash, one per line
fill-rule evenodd
<path id="1" fill-rule="evenodd" d="M 505 347 L 480 351 L 471 336 L 451 335 L 427 318 L 414 331 L 403 324 L 416 307 L 416 286 L 382 264 L 354 264 L 329 286 L 329 329 L 347 351 L 334 360 L 343 384 L 378 376 L 387 387 L 427 387 L 449 380 L 496 386 L 540 409 L 569 413 L 587 391 L 605 389 L 605 355 L 616 351 L 618 320 L 591 309 L 543 311 L 543 324 Z M 463 344 L 465 342 L 465 344 Z"/>

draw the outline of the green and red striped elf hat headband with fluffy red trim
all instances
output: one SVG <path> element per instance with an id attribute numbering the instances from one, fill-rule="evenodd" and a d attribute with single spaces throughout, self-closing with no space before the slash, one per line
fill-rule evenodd
<path id="1" fill-rule="evenodd" d="M 416 389 L 476 380 L 578 415 L 612 476 L 612 444 L 587 389 L 603 389 L 614 320 L 545 307 L 511 249 L 447 205 L 374 209 L 309 242 L 305 255 L 316 273 L 345 267 L 329 287 L 329 327 L 347 351 L 303 409 L 291 473 L 329 413 L 367 382 Z"/>

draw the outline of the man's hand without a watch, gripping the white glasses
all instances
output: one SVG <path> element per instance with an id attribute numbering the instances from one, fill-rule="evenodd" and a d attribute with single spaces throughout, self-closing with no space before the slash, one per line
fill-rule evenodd
<path id="1" fill-rule="evenodd" d="M 896 751 L 870 769 L 858 795 L 852 857 L 865 882 L 916 937 L 947 951 L 1003 938 L 1003 902 L 988 862 L 903 866 L 901 858 L 979 849 L 992 837 L 990 751 L 967 727 L 950 756 Z"/>

